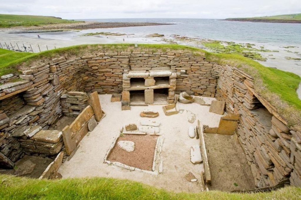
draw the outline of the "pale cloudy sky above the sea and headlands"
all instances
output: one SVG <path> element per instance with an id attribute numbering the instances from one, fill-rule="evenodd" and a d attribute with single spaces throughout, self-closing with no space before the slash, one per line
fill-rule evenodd
<path id="1" fill-rule="evenodd" d="M 301 0 L 0 0 L 0 13 L 64 19 L 221 19 L 301 13 Z"/>

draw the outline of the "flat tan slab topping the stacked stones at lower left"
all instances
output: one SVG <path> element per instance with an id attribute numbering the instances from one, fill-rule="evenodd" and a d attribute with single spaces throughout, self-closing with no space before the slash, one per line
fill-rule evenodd
<path id="1" fill-rule="evenodd" d="M 62 132 L 59 130 L 40 130 L 30 139 L 38 142 L 57 143 L 61 137 Z"/>

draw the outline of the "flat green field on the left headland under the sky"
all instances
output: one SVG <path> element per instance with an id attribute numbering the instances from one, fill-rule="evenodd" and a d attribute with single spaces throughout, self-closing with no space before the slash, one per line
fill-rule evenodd
<path id="1" fill-rule="evenodd" d="M 79 21 L 36 15 L 6 15 L 0 14 L 0 28 L 14 26 L 39 26 L 45 24 L 74 23 Z"/>

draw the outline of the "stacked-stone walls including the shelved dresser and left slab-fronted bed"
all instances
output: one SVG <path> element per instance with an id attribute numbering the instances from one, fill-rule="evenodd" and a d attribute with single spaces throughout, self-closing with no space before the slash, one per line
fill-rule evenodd
<path id="1" fill-rule="evenodd" d="M 11 82 L 18 77 L 22 80 Z M 181 92 L 215 97 L 225 102 L 227 113 L 239 116 L 235 133 L 257 187 L 285 182 L 301 186 L 301 130 L 289 127 L 256 93 L 253 78 L 236 67 L 183 51 L 111 52 L 53 58 L 20 75 L 2 76 L 1 83 L 1 167 L 13 168 L 24 154 L 59 155 L 57 162 L 63 155 L 72 156 L 94 121 L 104 115 L 96 93 L 123 94 L 116 98 L 130 109 L 135 91 L 145 104 L 152 104 L 157 90 L 164 89 L 166 103 Z M 63 115 L 79 119 L 62 131 L 48 130 Z"/>

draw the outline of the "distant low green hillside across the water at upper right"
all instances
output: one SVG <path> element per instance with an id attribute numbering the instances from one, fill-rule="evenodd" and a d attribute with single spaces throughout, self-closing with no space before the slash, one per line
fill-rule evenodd
<path id="1" fill-rule="evenodd" d="M 227 18 L 222 20 L 237 22 L 301 23 L 301 13 L 265 17 Z"/>

